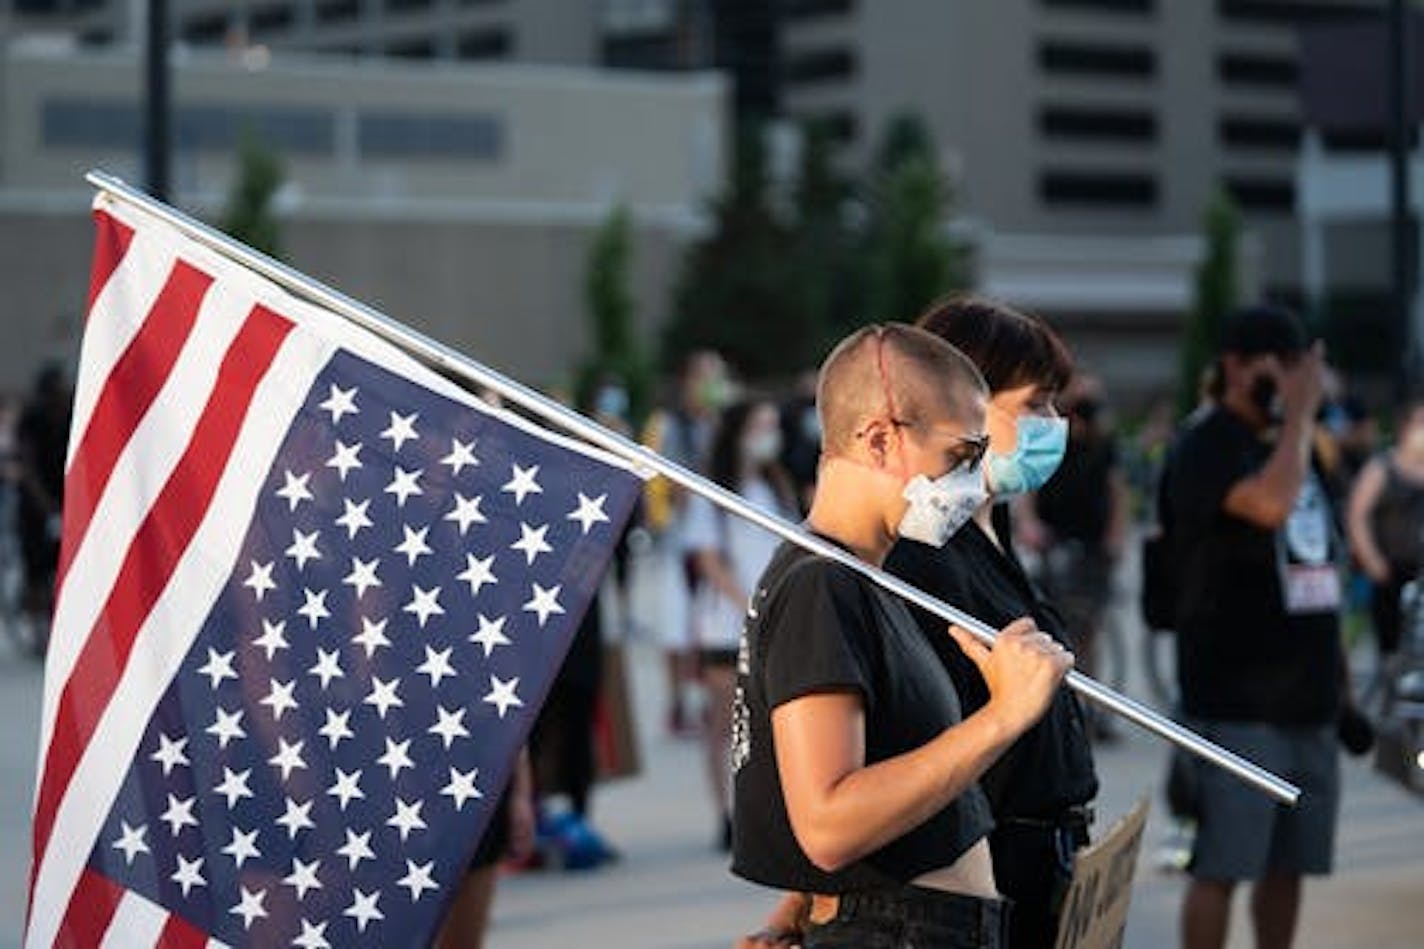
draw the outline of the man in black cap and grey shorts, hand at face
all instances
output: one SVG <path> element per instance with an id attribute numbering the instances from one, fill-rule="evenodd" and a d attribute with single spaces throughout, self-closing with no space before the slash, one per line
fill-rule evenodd
<path id="1" fill-rule="evenodd" d="M 1312 465 L 1324 375 L 1289 312 L 1223 331 L 1220 396 L 1173 445 L 1165 499 L 1178 564 L 1178 677 L 1203 734 L 1296 782 L 1294 808 L 1196 762 L 1188 949 L 1222 946 L 1250 881 L 1257 946 L 1289 946 L 1302 876 L 1327 873 L 1339 808 L 1341 543 Z"/>

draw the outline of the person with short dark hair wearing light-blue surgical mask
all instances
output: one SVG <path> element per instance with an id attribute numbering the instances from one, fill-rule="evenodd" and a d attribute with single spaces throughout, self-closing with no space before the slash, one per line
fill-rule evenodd
<path id="1" fill-rule="evenodd" d="M 1020 419 L 1055 418 L 1054 396 L 1072 365 L 1042 321 L 983 298 L 956 296 L 931 306 L 917 325 L 954 345 L 984 373 L 991 457 L 1017 450 Z M 1068 643 L 1062 617 L 1014 553 L 1008 506 L 994 503 L 1015 490 L 1040 487 L 1035 482 L 1052 474 L 1051 465 L 1030 465 L 1027 470 L 1031 473 L 1022 477 L 1002 479 L 1011 482 L 1007 486 L 991 479 L 994 497 L 944 547 L 897 543 L 886 570 L 993 626 L 1031 617 L 1038 628 Z M 937 617 L 914 613 L 950 671 L 964 711 L 980 708 L 988 693 L 974 663 L 944 636 Z M 1058 690 L 1048 714 L 988 768 L 981 785 L 995 824 L 990 836 L 994 876 L 1014 901 L 1008 945 L 1051 948 L 1072 878 L 1072 855 L 1088 842 L 1091 802 L 1098 792 L 1078 698 Z"/>

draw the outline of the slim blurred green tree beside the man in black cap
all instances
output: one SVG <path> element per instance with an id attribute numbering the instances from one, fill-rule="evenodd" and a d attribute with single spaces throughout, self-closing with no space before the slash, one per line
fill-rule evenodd
<path id="1" fill-rule="evenodd" d="M 1196 265 L 1192 309 L 1182 338 L 1178 415 L 1186 415 L 1196 406 L 1202 370 L 1216 358 L 1222 322 L 1240 301 L 1240 276 L 1236 269 L 1240 229 L 1236 204 L 1229 194 L 1218 191 L 1202 212 L 1206 251 Z"/>

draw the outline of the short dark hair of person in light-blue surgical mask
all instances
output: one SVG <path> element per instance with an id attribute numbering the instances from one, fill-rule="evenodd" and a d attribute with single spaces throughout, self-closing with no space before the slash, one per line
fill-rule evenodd
<path id="1" fill-rule="evenodd" d="M 1061 390 L 1072 378 L 1072 356 L 1038 316 L 974 294 L 936 301 L 914 325 L 968 356 L 990 392 L 1037 385 Z"/>

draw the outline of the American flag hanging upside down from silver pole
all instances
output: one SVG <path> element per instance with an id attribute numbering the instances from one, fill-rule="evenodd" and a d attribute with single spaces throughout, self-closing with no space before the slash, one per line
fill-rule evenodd
<path id="1" fill-rule="evenodd" d="M 26 945 L 424 945 L 638 479 L 95 225 Z"/>

